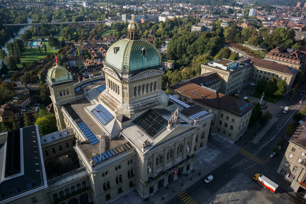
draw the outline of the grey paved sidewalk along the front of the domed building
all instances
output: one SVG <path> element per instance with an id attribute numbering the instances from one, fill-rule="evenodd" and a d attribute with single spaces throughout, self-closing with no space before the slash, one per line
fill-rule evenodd
<path id="1" fill-rule="evenodd" d="M 179 174 L 177 180 L 172 181 L 169 179 L 169 184 L 166 187 L 159 188 L 160 192 L 154 193 L 154 196 L 149 197 L 147 202 L 145 202 L 144 199 L 140 197 L 137 191 L 131 192 L 128 195 L 124 195 L 118 201 L 122 204 L 165 203 L 173 197 L 177 196 L 180 192 L 184 191 L 190 185 L 196 183 L 197 180 L 207 176 L 209 172 L 220 166 L 240 150 L 240 147 L 229 143 L 221 137 L 211 136 L 208 139 L 207 148 L 196 154 L 196 158 L 193 163 L 194 171 L 190 171 L 188 173 L 188 177 Z M 200 176 L 199 172 L 201 173 Z M 192 178 L 191 181 L 190 178 Z M 181 184 L 184 184 L 184 187 L 181 187 Z M 172 190 L 174 190 L 174 193 L 172 193 Z M 164 197 L 164 200 L 162 200 L 162 197 Z"/>

